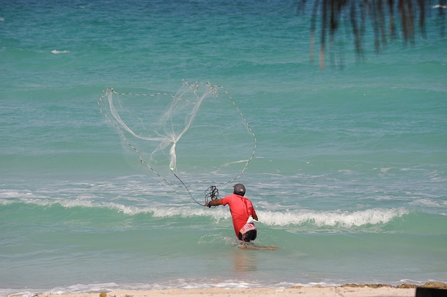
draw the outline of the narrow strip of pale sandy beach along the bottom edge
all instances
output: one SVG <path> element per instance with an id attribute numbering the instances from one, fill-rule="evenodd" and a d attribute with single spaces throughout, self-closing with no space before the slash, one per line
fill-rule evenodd
<path id="1" fill-rule="evenodd" d="M 160 297 L 160 296 L 288 296 L 288 297 L 319 297 L 319 296 L 349 296 L 349 297 L 379 297 L 379 296 L 416 296 L 417 288 L 447 289 L 447 284 L 428 282 L 422 286 L 401 284 L 397 287 L 390 284 L 344 284 L 337 287 L 302 287 L 296 286 L 284 289 L 252 288 L 252 289 L 163 289 L 163 290 L 114 290 L 109 292 L 90 293 L 52 293 L 37 294 L 38 297 Z M 446 290 L 447 291 L 447 290 Z"/>

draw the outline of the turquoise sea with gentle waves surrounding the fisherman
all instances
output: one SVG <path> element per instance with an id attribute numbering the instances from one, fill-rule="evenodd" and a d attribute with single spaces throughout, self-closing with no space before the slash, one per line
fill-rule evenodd
<path id="1" fill-rule="evenodd" d="M 1 0 L 0 296 L 447 282 L 447 37 L 428 13 L 414 45 L 376 54 L 371 29 L 362 61 L 342 30 L 322 71 L 293 0 Z M 222 86 L 249 123 L 254 158 L 219 193 L 244 183 L 278 250 L 237 248 L 228 207 L 166 183 L 101 114 L 110 87 L 175 96 L 182 79 Z M 247 159 L 220 102 L 177 143 L 199 202 L 205 173 L 238 174 L 205 159 Z"/>

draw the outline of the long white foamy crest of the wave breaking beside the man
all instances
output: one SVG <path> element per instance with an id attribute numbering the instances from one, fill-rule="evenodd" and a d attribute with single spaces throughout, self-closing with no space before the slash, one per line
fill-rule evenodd
<path id="1" fill-rule="evenodd" d="M 10 193 L 15 195 L 14 193 Z M 20 199 L 15 202 L 36 204 L 38 206 L 60 205 L 65 208 L 85 207 L 85 208 L 108 208 L 125 215 L 138 215 L 140 213 L 151 213 L 154 218 L 172 218 L 179 216 L 182 218 L 208 217 L 216 222 L 230 220 L 230 211 L 226 207 L 205 208 L 195 205 L 171 206 L 128 206 L 117 202 L 98 202 L 89 199 Z M 2 200 L 1 203 L 11 204 L 10 199 Z M 418 200 L 417 204 L 425 206 L 437 206 L 433 201 Z M 362 211 L 256 211 L 259 222 L 270 226 L 301 226 L 311 224 L 316 227 L 360 227 L 367 224 L 386 224 L 395 218 L 409 213 L 405 208 L 372 208 Z"/>

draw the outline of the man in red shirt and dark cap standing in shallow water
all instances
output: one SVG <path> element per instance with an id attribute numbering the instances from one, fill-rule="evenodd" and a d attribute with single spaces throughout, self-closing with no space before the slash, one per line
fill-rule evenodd
<path id="1" fill-rule="evenodd" d="M 240 241 L 250 242 L 256 239 L 257 230 L 254 222 L 258 222 L 258 215 L 254 211 L 251 201 L 244 197 L 245 187 L 242 183 L 233 185 L 233 195 L 228 195 L 222 199 L 215 199 L 205 203 L 204 206 L 218 206 L 227 204 L 230 206 L 233 227 L 236 237 Z"/>

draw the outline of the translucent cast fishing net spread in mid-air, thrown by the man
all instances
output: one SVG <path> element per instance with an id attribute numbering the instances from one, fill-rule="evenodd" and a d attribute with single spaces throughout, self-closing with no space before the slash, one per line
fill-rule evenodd
<path id="1" fill-rule="evenodd" d="M 222 86 L 182 82 L 175 95 L 109 88 L 98 105 L 135 162 L 192 196 L 242 176 L 256 137 Z"/>

